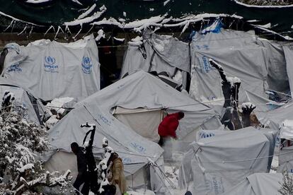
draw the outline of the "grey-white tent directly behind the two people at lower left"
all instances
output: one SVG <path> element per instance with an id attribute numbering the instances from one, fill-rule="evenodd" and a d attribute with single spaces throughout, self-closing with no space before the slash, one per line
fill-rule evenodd
<path id="1" fill-rule="evenodd" d="M 76 158 L 70 153 L 70 144 L 77 142 L 81 145 L 87 130 L 82 129 L 80 125 L 85 122 L 96 124 L 93 142 L 94 156 L 98 159 L 102 158 L 104 153 L 102 141 L 104 137 L 108 138 L 109 146 L 120 155 L 125 165 L 128 186 L 139 187 L 150 184 L 154 190 L 163 189 L 163 183 L 159 179 L 163 178 L 161 170 L 159 167 L 149 166 L 149 162 L 163 165 L 163 158 L 161 158 L 163 149 L 119 122 L 96 102 L 84 102 L 82 106 L 71 110 L 48 131 L 52 148 L 50 153 L 43 156 L 47 170 L 61 172 L 71 170 L 73 175 L 76 175 Z M 149 168 L 146 169 L 146 167 Z M 149 174 L 150 179 L 147 177 Z"/>

